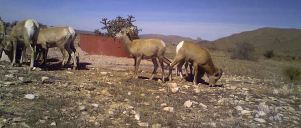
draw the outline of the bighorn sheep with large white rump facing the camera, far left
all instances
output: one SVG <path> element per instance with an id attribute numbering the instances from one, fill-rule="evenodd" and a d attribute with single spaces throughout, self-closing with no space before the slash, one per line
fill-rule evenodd
<path id="1" fill-rule="evenodd" d="M 23 63 L 26 48 L 31 50 L 31 61 L 29 70 L 34 67 L 34 57 L 36 52 L 36 44 L 40 31 L 40 26 L 34 19 L 25 19 L 19 21 L 12 29 L 9 39 L 6 41 L 5 51 L 13 51 L 12 66 L 16 63 L 17 47 L 22 48 L 20 63 Z"/>

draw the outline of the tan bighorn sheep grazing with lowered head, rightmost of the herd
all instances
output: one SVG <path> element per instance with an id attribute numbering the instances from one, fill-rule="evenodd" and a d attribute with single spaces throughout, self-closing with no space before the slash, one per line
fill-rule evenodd
<path id="1" fill-rule="evenodd" d="M 216 81 L 220 79 L 223 74 L 221 68 L 213 64 L 210 53 L 199 46 L 198 44 L 190 41 L 181 41 L 177 45 L 177 55 L 172 63 L 170 63 L 169 77 L 172 80 L 172 68 L 174 65 L 181 61 L 189 61 L 193 64 L 194 79 L 193 83 L 197 84 L 197 75 L 199 70 L 203 70 L 209 77 L 209 86 L 214 86 Z M 199 69 L 200 68 L 200 69 Z"/>

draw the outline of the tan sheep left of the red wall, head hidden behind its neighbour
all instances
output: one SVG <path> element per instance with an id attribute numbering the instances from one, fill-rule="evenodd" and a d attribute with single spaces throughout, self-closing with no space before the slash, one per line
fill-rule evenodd
<path id="1" fill-rule="evenodd" d="M 43 65 L 46 69 L 46 63 L 47 63 L 47 53 L 48 49 L 52 47 L 59 47 L 63 54 L 63 60 L 62 65 L 65 64 L 65 61 L 67 59 L 67 53 L 68 52 L 68 60 L 66 65 L 69 64 L 69 61 L 72 56 L 74 61 L 73 69 L 76 68 L 76 58 L 74 55 L 73 50 L 70 47 L 70 42 L 72 39 L 72 35 L 69 32 L 68 28 L 66 27 L 49 27 L 49 28 L 41 28 L 38 41 L 37 41 L 37 47 L 41 49 L 43 53 Z"/>

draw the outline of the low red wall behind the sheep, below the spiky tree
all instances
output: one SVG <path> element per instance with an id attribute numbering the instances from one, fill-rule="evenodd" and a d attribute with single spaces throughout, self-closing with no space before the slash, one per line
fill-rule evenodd
<path id="1" fill-rule="evenodd" d="M 80 34 L 80 48 L 89 54 L 129 57 L 123 41 L 113 37 Z"/>

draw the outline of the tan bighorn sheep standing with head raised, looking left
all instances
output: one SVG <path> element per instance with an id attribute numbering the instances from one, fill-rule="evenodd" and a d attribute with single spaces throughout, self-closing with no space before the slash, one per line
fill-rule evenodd
<path id="1" fill-rule="evenodd" d="M 158 68 L 157 58 L 162 67 L 162 82 L 164 82 L 164 53 L 166 50 L 165 42 L 160 39 L 132 39 L 133 27 L 122 28 L 115 37 L 123 37 L 124 45 L 129 54 L 134 58 L 134 77 L 137 78 L 137 72 L 141 59 L 152 59 L 154 63 L 154 71 L 149 79 L 153 79 Z"/>

